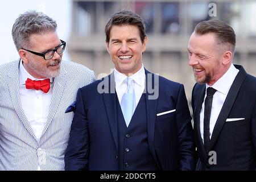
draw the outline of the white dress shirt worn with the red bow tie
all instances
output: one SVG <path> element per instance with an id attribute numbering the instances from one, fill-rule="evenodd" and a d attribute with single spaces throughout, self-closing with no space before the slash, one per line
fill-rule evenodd
<path id="1" fill-rule="evenodd" d="M 53 78 L 50 78 L 51 86 L 49 92 L 44 93 L 42 90 L 26 89 L 26 80 L 44 80 L 36 79 L 32 77 L 24 68 L 22 61 L 19 63 L 19 94 L 20 102 L 24 114 L 27 117 L 28 122 L 32 130 L 34 131 L 35 137 L 39 140 L 44 126 L 47 122 L 49 105 L 51 103 Z M 39 164 L 44 161 L 43 151 L 39 151 Z M 40 165 L 38 166 L 40 170 Z"/>

